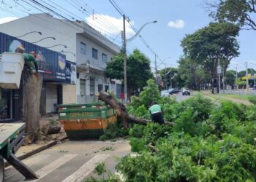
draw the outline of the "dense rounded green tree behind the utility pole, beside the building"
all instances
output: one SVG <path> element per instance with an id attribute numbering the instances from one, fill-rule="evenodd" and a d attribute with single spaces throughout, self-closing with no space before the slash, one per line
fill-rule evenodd
<path id="1" fill-rule="evenodd" d="M 118 53 L 113 60 L 107 63 L 105 76 L 110 79 L 124 78 L 124 57 Z M 127 88 L 128 94 L 138 88 L 142 89 L 147 85 L 147 80 L 151 79 L 153 74 L 150 68 L 150 60 L 146 58 L 139 50 L 134 50 L 127 58 Z"/>

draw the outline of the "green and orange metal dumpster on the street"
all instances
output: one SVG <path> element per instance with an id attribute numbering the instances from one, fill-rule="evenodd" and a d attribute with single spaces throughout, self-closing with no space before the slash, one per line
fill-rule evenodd
<path id="1" fill-rule="evenodd" d="M 59 122 L 71 140 L 99 138 L 116 122 L 113 108 L 105 103 L 59 105 Z"/>

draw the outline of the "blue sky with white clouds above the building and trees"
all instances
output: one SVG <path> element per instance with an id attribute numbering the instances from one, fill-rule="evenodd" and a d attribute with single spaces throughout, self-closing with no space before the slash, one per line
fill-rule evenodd
<path id="1" fill-rule="evenodd" d="M 121 15 L 110 4 L 108 0 L 52 0 L 59 4 L 64 9 L 74 12 L 78 17 L 86 19 L 94 28 L 98 28 L 103 34 L 106 34 L 110 39 L 115 39 L 116 44 L 121 44 L 121 36 L 119 31 L 122 30 Z M 1 4 L 0 7 L 9 9 L 8 4 L 12 1 L 5 1 L 7 4 Z M 22 1 L 19 1 L 29 13 L 39 12 L 38 10 L 29 7 Z M 51 4 L 49 0 L 45 0 Z M 208 17 L 207 9 L 203 6 L 202 0 L 115 0 L 118 7 L 129 16 L 129 20 L 135 28 L 139 29 L 144 23 L 157 20 L 157 23 L 147 25 L 141 31 L 141 35 L 146 40 L 151 50 L 157 53 L 157 66 L 164 68 L 165 66 L 177 67 L 176 61 L 182 55 L 180 46 L 181 39 L 186 34 L 193 33 L 198 28 L 203 28 L 212 21 Z M 71 3 L 71 4 L 70 4 Z M 85 12 L 79 8 L 75 8 L 76 4 L 82 4 Z M 87 4 L 87 5 L 86 5 Z M 16 4 L 17 5 L 17 4 Z M 26 12 L 18 9 L 24 9 L 12 3 L 12 13 L 4 12 L 0 9 L 0 22 L 4 17 L 22 17 L 27 15 Z M 92 14 L 94 9 L 94 16 Z M 13 14 L 15 12 L 15 14 Z M 128 24 L 128 23 L 127 23 Z M 110 28 L 113 26 L 112 28 Z M 127 25 L 127 36 L 132 36 L 132 29 Z M 245 62 L 249 63 L 249 67 L 256 69 L 256 31 L 241 31 L 238 37 L 240 43 L 240 52 L 238 58 L 230 63 L 230 68 L 238 70 L 245 68 Z M 154 67 L 154 54 L 148 50 L 145 44 L 137 37 L 135 40 L 127 44 L 127 50 L 131 52 L 133 49 L 139 48 L 151 60 L 151 66 Z M 170 58 L 169 58 L 170 57 Z M 167 58 L 167 59 L 165 59 Z M 164 63 L 161 60 L 165 60 Z"/>

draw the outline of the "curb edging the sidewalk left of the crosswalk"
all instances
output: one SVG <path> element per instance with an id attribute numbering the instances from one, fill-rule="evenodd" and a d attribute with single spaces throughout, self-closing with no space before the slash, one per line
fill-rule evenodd
<path id="1" fill-rule="evenodd" d="M 26 159 L 26 158 L 28 158 L 28 157 L 31 157 L 32 155 L 37 154 L 37 153 L 39 153 L 40 151 L 44 151 L 45 149 L 49 149 L 50 147 L 55 146 L 56 144 L 59 143 L 59 141 L 64 141 L 65 139 L 67 139 L 67 137 L 61 138 L 61 139 L 59 139 L 58 141 L 51 141 L 51 142 L 45 144 L 45 146 L 40 146 L 39 148 L 34 149 L 33 151 L 29 151 L 29 152 L 26 153 L 26 154 L 20 155 L 20 156 L 18 157 L 18 159 L 23 160 L 23 159 Z M 5 166 L 5 167 L 10 166 L 9 162 L 4 162 L 4 166 Z"/>

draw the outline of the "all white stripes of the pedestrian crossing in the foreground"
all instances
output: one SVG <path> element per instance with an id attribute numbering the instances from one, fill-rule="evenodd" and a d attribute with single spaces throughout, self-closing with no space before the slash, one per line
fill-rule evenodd
<path id="1" fill-rule="evenodd" d="M 71 174 L 65 174 L 64 180 L 61 180 L 60 182 L 78 182 L 78 181 L 84 181 L 86 176 L 88 176 L 90 173 L 93 172 L 94 168 L 97 166 L 99 162 L 104 162 L 105 159 L 107 159 L 110 156 L 110 154 L 95 154 L 91 159 L 89 159 L 87 162 L 83 163 L 80 167 L 78 167 L 75 172 L 70 172 Z M 50 155 L 49 154 L 39 154 L 35 157 L 31 157 L 29 159 L 24 160 L 23 162 L 30 167 L 30 165 L 33 163 L 34 160 L 37 160 L 37 162 L 40 161 L 47 161 Z M 46 164 L 45 166 L 39 168 L 36 170 L 36 174 L 39 175 L 38 179 L 27 181 L 25 178 L 21 177 L 19 181 L 26 181 L 26 182 L 36 182 L 36 181 L 48 181 L 44 180 L 44 177 L 47 177 L 47 175 L 52 174 L 56 170 L 60 170 L 61 167 L 64 165 L 67 165 L 68 162 L 72 162 L 76 157 L 79 157 L 79 154 L 64 154 L 60 156 L 58 159 L 50 161 L 50 163 Z M 6 175 L 5 175 L 5 181 L 17 181 L 14 178 L 14 175 L 20 175 L 17 170 L 13 169 L 13 167 L 8 167 L 6 169 Z M 65 178 L 66 177 L 66 178 Z M 51 182 L 51 181 L 48 181 Z M 55 182 L 55 181 L 54 181 Z"/>

